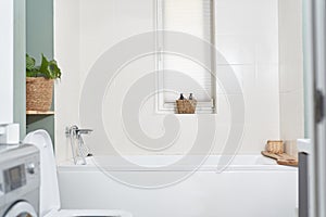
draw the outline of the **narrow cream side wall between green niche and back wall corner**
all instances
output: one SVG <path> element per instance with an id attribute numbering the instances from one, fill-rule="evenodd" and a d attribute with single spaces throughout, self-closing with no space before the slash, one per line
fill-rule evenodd
<path id="1" fill-rule="evenodd" d="M 54 58 L 62 69 L 61 79 L 55 82 L 55 152 L 58 157 L 66 158 L 71 148 L 65 140 L 65 127 L 79 124 L 79 1 L 58 0 L 54 8 Z"/>

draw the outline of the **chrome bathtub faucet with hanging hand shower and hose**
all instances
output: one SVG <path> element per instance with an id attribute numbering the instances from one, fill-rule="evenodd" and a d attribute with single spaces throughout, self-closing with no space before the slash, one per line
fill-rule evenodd
<path id="1" fill-rule="evenodd" d="M 65 136 L 66 138 L 71 139 L 73 158 L 76 165 L 80 164 L 80 161 L 82 161 L 82 165 L 86 165 L 85 157 L 91 156 L 91 154 L 89 153 L 89 149 L 85 144 L 82 135 L 89 135 L 92 131 L 93 131 L 92 129 L 79 129 L 78 126 L 76 125 L 65 128 Z"/>

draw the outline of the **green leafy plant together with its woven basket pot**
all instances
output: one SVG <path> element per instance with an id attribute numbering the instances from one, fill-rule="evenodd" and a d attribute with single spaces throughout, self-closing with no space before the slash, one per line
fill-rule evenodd
<path id="1" fill-rule="evenodd" d="M 54 60 L 41 54 L 41 64 L 26 54 L 26 110 L 49 111 L 52 104 L 53 81 L 61 78 L 61 69 Z"/>

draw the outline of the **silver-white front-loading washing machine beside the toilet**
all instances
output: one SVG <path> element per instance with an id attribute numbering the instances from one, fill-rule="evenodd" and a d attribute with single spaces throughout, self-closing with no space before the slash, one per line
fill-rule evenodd
<path id="1" fill-rule="evenodd" d="M 39 151 L 34 145 L 0 144 L 0 217 L 37 217 Z"/>

